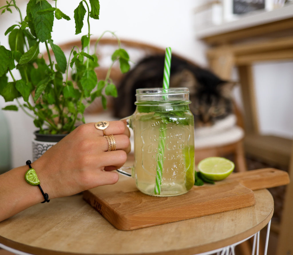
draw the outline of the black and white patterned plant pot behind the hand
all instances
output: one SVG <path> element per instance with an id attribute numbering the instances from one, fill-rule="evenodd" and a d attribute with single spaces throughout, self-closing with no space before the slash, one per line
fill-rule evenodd
<path id="1" fill-rule="evenodd" d="M 38 131 L 34 132 L 35 139 L 33 139 L 33 161 L 37 160 L 40 156 L 42 156 L 45 151 L 50 149 L 54 144 L 57 144 L 64 135 L 49 135 L 49 134 L 39 134 Z"/>

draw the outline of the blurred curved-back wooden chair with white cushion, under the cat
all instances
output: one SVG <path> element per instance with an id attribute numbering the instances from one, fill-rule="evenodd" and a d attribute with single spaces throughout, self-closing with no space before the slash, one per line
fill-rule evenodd
<path id="1" fill-rule="evenodd" d="M 91 44 L 93 47 L 95 44 L 95 41 L 93 40 Z M 71 48 L 75 45 L 80 46 L 80 42 L 78 41 L 70 42 L 70 43 L 64 44 L 63 46 L 61 46 L 61 48 L 65 54 L 69 54 Z M 165 49 L 163 48 L 142 43 L 142 42 L 135 42 L 131 40 L 121 40 L 121 47 L 126 49 L 126 51 L 129 53 L 130 59 L 132 61 L 131 67 L 134 66 L 135 63 L 137 63 L 140 59 L 144 58 L 145 56 L 165 53 Z M 108 72 L 108 67 L 111 64 L 111 54 L 113 54 L 115 49 L 118 49 L 118 44 L 116 39 L 112 39 L 112 38 L 100 39 L 97 46 L 97 55 L 98 55 L 99 64 L 100 64 L 100 66 L 97 68 L 98 79 L 104 79 L 106 77 L 106 74 Z M 176 55 L 176 56 L 182 58 L 182 56 L 179 56 L 179 55 Z M 123 75 L 120 72 L 120 69 L 117 63 L 117 65 L 114 65 L 111 70 L 110 78 L 113 80 L 113 83 L 115 85 L 118 85 L 122 76 Z M 86 120 L 91 121 L 93 119 L 96 119 L 97 115 L 100 115 L 100 117 L 105 116 L 105 118 L 109 120 L 115 119 L 113 118 L 111 113 L 112 105 L 113 105 L 112 100 L 109 97 L 108 105 L 107 105 L 108 110 L 104 111 L 102 108 L 100 99 L 95 100 L 85 110 Z M 236 133 L 237 133 L 236 136 L 235 136 L 235 132 L 233 134 L 233 132 L 230 130 L 231 131 L 230 135 L 228 132 L 228 137 L 226 141 L 223 141 L 222 143 L 209 142 L 207 144 L 202 143 L 203 137 L 195 137 L 195 163 L 196 164 L 203 158 L 206 158 L 209 156 L 224 156 L 225 157 L 228 155 L 233 155 L 234 156 L 233 161 L 236 165 L 235 170 L 236 171 L 246 170 L 246 163 L 245 163 L 243 144 L 242 144 L 242 139 L 244 136 L 243 121 L 242 121 L 242 116 L 240 114 L 240 111 L 238 110 L 236 105 L 234 107 L 234 113 L 236 116 L 236 125 L 234 128 L 234 131 L 236 130 Z M 234 137 L 231 137 L 232 135 L 234 135 Z M 221 134 L 218 134 L 218 136 L 221 137 Z M 210 137 L 209 139 L 211 140 L 213 138 Z M 200 143 L 200 146 L 198 146 L 199 143 Z"/>

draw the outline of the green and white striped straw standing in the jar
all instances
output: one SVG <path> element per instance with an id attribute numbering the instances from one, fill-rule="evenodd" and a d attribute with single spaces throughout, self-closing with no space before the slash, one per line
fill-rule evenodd
<path id="1" fill-rule="evenodd" d="M 171 48 L 166 48 L 165 52 L 165 63 L 164 63 L 164 77 L 163 77 L 163 92 L 164 89 L 169 88 L 170 82 L 170 67 L 171 67 Z M 166 96 L 163 96 L 163 99 L 166 100 Z M 164 154 L 165 154 L 165 137 L 166 137 L 166 124 L 161 123 L 160 125 L 160 137 L 158 152 L 161 153 L 161 157 L 157 158 L 157 167 L 156 167 L 156 185 L 155 185 L 155 194 L 161 194 L 161 184 L 162 184 L 162 173 L 163 173 L 163 164 L 164 164 Z"/>

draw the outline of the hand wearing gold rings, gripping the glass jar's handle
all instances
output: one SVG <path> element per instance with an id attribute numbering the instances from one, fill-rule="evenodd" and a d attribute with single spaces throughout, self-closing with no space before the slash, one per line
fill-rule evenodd
<path id="1" fill-rule="evenodd" d="M 130 132 L 121 121 L 110 121 L 105 135 L 114 135 L 116 151 L 108 150 L 103 131 L 94 123 L 77 127 L 32 163 L 49 199 L 64 197 L 100 185 L 114 184 L 130 152 Z"/>

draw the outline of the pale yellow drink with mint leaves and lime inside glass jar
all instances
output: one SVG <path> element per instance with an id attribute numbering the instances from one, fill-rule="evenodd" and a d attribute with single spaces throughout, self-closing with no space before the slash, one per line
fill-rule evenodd
<path id="1" fill-rule="evenodd" d="M 194 185 L 194 125 L 190 101 L 137 101 L 130 117 L 134 129 L 132 177 L 148 195 L 174 196 Z M 155 192 L 158 165 L 160 190 Z"/>

